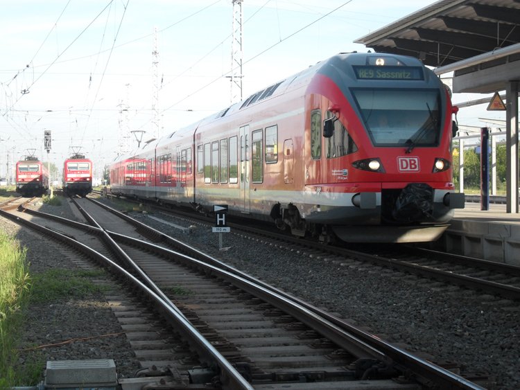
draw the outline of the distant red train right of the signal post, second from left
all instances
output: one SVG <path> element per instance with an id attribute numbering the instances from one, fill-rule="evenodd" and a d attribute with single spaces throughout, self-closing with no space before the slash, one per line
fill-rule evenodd
<path id="1" fill-rule="evenodd" d="M 92 161 L 83 154 L 73 154 L 63 163 L 63 192 L 87 196 L 92 191 Z"/>

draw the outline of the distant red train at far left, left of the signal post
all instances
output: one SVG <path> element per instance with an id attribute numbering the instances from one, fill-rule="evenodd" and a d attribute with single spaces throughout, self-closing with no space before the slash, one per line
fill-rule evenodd
<path id="1" fill-rule="evenodd" d="M 42 196 L 49 190 L 49 170 L 37 157 L 16 163 L 16 192 L 22 196 Z"/>

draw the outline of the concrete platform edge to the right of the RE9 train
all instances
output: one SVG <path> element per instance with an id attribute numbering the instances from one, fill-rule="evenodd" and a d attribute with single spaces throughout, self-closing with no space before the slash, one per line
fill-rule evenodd
<path id="1" fill-rule="evenodd" d="M 506 213 L 505 204 L 467 202 L 435 244 L 445 251 L 520 266 L 520 213 Z"/>

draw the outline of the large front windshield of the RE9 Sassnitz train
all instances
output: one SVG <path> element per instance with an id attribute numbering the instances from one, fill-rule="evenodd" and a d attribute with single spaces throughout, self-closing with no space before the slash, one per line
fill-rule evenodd
<path id="1" fill-rule="evenodd" d="M 437 90 L 353 89 L 374 146 L 436 146 L 440 141 Z"/>

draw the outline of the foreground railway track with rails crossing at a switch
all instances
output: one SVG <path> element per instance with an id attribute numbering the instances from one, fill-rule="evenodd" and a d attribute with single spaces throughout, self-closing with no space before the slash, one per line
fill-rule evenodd
<path id="1" fill-rule="evenodd" d="M 97 255 L 98 258 L 103 258 L 103 263 L 120 274 L 126 273 L 127 283 L 144 285 L 140 288 L 141 294 L 148 294 L 146 301 L 159 305 L 160 311 L 166 313 L 166 322 L 173 328 L 183 329 L 182 336 L 191 339 L 190 351 L 196 351 L 198 360 L 202 360 L 206 368 L 215 365 L 220 368 L 220 375 L 210 369 L 205 375 L 218 377 L 217 382 L 223 388 L 252 386 L 262 389 L 265 386 L 276 389 L 278 386 L 286 388 L 295 381 L 314 382 L 297 385 L 299 389 L 310 389 L 315 388 L 318 381 L 333 382 L 332 387 L 327 388 L 347 389 L 356 380 L 370 380 L 375 373 L 379 373 L 379 380 L 374 384 L 381 389 L 479 388 L 331 314 L 225 267 L 182 242 L 146 227 L 139 227 L 136 235 L 135 228 L 129 229 L 121 220 L 113 219 L 114 211 L 107 217 L 106 213 L 94 211 L 98 205 L 88 200 L 78 200 L 78 204 L 90 224 L 96 224 L 91 217 L 96 214 L 98 226 L 64 221 L 26 208 L 23 214 L 30 214 L 32 218 L 28 219 L 32 220 L 51 219 L 52 223 L 45 222 L 47 233 L 60 240 L 67 238 L 70 245 L 79 245 L 78 241 L 82 241 L 79 245 L 82 251 L 89 252 L 87 248 L 97 247 L 93 241 L 104 237 L 102 247 L 110 249 L 99 248 L 100 252 L 107 250 L 108 253 Z M 8 214 L 2 211 L 4 213 Z M 125 215 L 117 218 L 128 219 Z M 23 223 L 30 222 L 24 219 Z M 67 223 L 66 228 L 63 223 Z M 60 230 L 66 234 L 58 233 Z M 145 235 L 155 244 L 144 242 Z M 119 242 L 119 246 L 107 245 L 114 241 Z M 180 251 L 168 249 L 170 245 L 179 247 Z M 172 260 L 182 264 L 174 264 Z M 125 272 L 121 270 L 123 265 L 130 267 L 133 261 L 137 267 Z M 137 276 L 142 280 L 139 283 Z M 123 308 L 126 306 L 122 304 Z M 121 310 L 125 311 L 132 310 Z M 196 335 L 184 334 L 190 333 L 188 330 L 195 330 Z M 139 343 L 144 345 L 146 341 Z M 211 351 L 211 348 L 217 351 Z M 174 357 L 169 360 L 176 361 Z M 153 361 L 145 359 L 144 362 L 143 369 L 147 370 Z M 155 361 L 159 362 L 164 363 L 164 360 Z M 186 368 L 180 366 L 177 373 Z M 399 378 L 404 383 L 398 385 L 389 378 Z"/>

